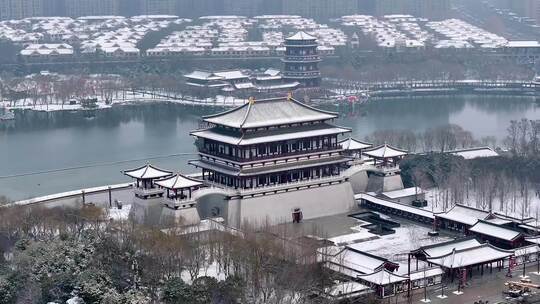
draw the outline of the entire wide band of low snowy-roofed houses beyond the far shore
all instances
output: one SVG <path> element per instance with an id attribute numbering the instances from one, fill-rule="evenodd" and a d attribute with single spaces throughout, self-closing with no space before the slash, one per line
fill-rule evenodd
<path id="1" fill-rule="evenodd" d="M 0 0 L 1 1 L 1 0 Z M 321 23 L 299 15 L 203 16 L 114 15 L 30 17 L 0 21 L 0 39 L 21 47 L 25 62 L 72 57 L 137 60 L 141 57 L 282 58 L 286 37 L 302 31 L 317 42 L 317 54 L 340 49 L 477 49 L 536 61 L 538 41 L 506 38 L 459 19 L 433 21 L 412 15 L 346 15 Z M 149 33 L 161 32 L 152 39 Z M 160 40 L 161 39 L 161 40 Z M 143 41 L 144 40 L 144 41 Z"/>

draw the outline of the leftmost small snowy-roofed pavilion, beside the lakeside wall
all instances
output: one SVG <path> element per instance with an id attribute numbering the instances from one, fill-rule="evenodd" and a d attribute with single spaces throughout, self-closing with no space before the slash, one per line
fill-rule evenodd
<path id="1" fill-rule="evenodd" d="M 148 199 L 163 196 L 163 190 L 157 188 L 154 181 L 169 177 L 173 173 L 147 164 L 136 169 L 124 171 L 124 174 L 136 180 L 134 184 L 135 196 Z"/>

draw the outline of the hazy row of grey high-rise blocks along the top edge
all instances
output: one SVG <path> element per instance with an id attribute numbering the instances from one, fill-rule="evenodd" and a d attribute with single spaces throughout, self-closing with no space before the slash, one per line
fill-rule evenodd
<path id="1" fill-rule="evenodd" d="M 351 13 L 406 13 L 430 19 L 449 16 L 450 0 L 0 0 L 0 19 L 93 15 L 205 15 L 295 14 L 316 20 Z"/>

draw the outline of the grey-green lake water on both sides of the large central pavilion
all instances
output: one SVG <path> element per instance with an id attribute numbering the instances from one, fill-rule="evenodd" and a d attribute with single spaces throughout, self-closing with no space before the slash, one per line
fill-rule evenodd
<path id="1" fill-rule="evenodd" d="M 510 120 L 540 119 L 540 108 L 528 97 L 399 98 L 354 109 L 326 108 L 340 111 L 336 124 L 353 128 L 358 138 L 376 130 L 422 131 L 452 123 L 475 138 L 502 140 Z M 163 168 L 195 172 L 186 164 L 195 158 L 189 132 L 201 115 L 221 110 L 146 104 L 98 111 L 93 119 L 69 112 L 19 116 L 15 125 L 0 125 L 0 195 L 18 200 L 127 182 L 121 171 L 148 159 Z"/>

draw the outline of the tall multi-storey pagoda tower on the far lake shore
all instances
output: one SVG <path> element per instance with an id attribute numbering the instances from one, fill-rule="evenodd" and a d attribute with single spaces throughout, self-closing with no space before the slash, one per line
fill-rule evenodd
<path id="1" fill-rule="evenodd" d="M 298 32 L 286 38 L 285 55 L 282 59 L 283 78 L 290 82 L 298 82 L 303 87 L 320 86 L 321 57 L 317 46 L 317 38 L 305 32 Z"/>

